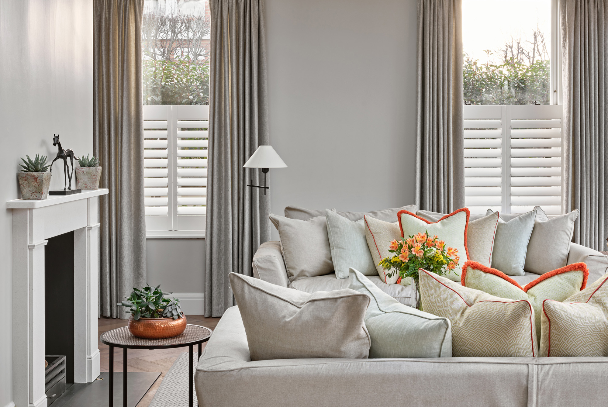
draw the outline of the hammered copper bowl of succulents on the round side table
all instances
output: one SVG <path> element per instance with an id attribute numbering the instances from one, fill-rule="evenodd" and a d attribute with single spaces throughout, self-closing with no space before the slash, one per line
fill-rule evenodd
<path id="1" fill-rule="evenodd" d="M 179 299 L 165 298 L 161 286 L 133 289 L 126 301 L 117 303 L 126 307 L 129 318 L 129 331 L 133 336 L 143 339 L 173 338 L 184 332 L 186 317 L 181 312 Z"/>

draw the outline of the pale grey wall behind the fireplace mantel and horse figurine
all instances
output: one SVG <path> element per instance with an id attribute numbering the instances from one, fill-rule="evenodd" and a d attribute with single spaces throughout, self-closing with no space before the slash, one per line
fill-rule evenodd
<path id="1" fill-rule="evenodd" d="M 0 202 L 20 197 L 19 157 L 55 157 L 53 133 L 77 156 L 93 148 L 92 2 L 0 1 Z M 51 188 L 63 188 L 55 163 Z M 103 163 L 102 163 L 103 165 Z M 61 176 L 60 176 L 61 173 Z M 12 405 L 12 214 L 0 213 L 0 406 Z M 15 361 L 17 363 L 17 361 Z"/>

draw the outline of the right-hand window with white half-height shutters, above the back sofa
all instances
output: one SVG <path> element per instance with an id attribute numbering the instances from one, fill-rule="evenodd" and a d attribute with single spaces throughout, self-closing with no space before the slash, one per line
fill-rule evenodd
<path id="1" fill-rule="evenodd" d="M 500 16 L 500 18 L 498 17 Z M 463 0 L 465 203 L 562 213 L 555 0 Z"/>

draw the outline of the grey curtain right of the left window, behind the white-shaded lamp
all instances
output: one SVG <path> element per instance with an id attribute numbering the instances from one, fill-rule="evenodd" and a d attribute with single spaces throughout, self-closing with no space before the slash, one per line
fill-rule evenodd
<path id="1" fill-rule="evenodd" d="M 233 306 L 230 272 L 252 274 L 258 246 L 270 239 L 270 194 L 246 188 L 258 169 L 243 165 L 268 145 L 262 0 L 210 0 L 211 70 L 205 316 Z"/>

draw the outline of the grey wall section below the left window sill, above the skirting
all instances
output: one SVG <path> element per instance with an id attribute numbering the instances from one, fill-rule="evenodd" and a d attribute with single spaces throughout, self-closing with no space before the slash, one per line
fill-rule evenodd
<path id="1" fill-rule="evenodd" d="M 147 239 L 148 282 L 166 291 L 202 293 L 205 239 Z"/>

